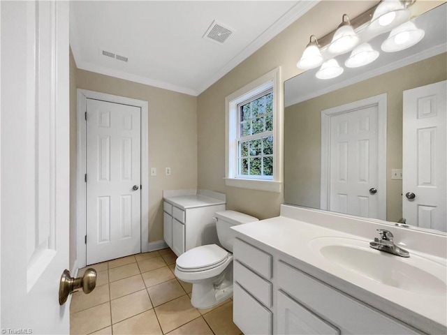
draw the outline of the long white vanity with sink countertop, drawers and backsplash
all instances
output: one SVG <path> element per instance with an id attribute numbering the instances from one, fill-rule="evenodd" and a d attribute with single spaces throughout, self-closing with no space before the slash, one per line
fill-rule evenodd
<path id="1" fill-rule="evenodd" d="M 288 205 L 232 229 L 244 334 L 447 333 L 446 236 Z M 410 257 L 369 248 L 376 229 Z"/>

